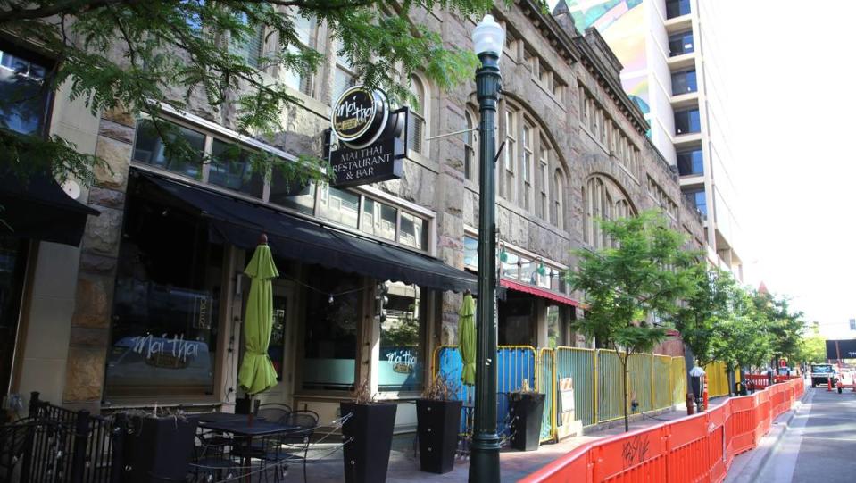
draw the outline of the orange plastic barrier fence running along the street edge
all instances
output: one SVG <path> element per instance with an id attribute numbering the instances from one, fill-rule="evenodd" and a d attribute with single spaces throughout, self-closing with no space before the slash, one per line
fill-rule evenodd
<path id="1" fill-rule="evenodd" d="M 732 397 L 708 412 L 580 446 L 520 481 L 719 482 L 735 455 L 757 446 L 804 390 L 802 379 L 793 379 Z"/>

